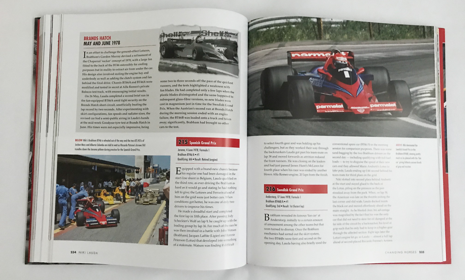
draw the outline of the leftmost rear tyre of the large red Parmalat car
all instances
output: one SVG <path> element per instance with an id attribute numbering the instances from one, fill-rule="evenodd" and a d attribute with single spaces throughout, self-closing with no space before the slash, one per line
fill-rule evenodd
<path id="1" fill-rule="evenodd" d="M 291 66 L 276 66 L 265 68 L 260 75 L 260 93 L 265 109 L 277 110 L 287 108 L 286 91 L 281 90 L 287 85 L 287 76 L 294 74 Z"/>

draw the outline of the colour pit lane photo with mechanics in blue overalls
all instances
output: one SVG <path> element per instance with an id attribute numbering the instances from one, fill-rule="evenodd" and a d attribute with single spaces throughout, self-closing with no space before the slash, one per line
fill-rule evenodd
<path id="1" fill-rule="evenodd" d="M 164 245 L 170 160 L 58 155 L 53 239 Z"/>

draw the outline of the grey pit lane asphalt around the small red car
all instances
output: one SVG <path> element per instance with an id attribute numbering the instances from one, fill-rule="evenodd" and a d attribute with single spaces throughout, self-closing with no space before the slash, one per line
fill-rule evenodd
<path id="1" fill-rule="evenodd" d="M 164 182 L 150 185 L 151 189 L 162 189 Z M 134 199 L 126 200 L 126 203 L 117 204 L 114 208 L 120 210 L 120 223 L 111 228 L 86 228 L 69 226 L 65 230 L 57 230 L 55 225 L 54 240 L 73 241 L 106 241 L 122 243 L 138 243 L 146 231 L 161 204 L 141 205 Z M 113 205 L 105 205 L 105 214 L 110 214 Z"/>

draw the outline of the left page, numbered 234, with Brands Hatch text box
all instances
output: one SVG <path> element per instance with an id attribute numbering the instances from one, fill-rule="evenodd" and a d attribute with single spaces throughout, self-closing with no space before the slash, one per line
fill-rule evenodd
<path id="1" fill-rule="evenodd" d="M 176 9 L 40 24 L 29 260 L 245 265 L 246 18 Z"/>

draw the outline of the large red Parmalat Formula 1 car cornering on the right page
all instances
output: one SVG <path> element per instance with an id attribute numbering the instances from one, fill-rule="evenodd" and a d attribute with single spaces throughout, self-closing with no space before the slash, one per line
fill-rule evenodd
<path id="1" fill-rule="evenodd" d="M 297 72 L 292 63 L 325 61 L 309 71 Z M 410 89 L 391 80 L 385 67 L 355 68 L 350 51 L 290 51 L 286 66 L 265 68 L 260 76 L 265 109 L 287 110 L 292 117 L 345 115 L 359 119 L 371 112 L 407 117 L 412 111 Z"/>

